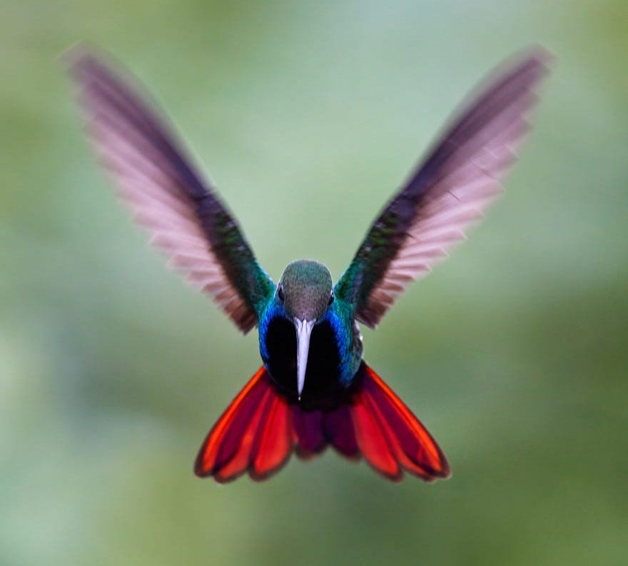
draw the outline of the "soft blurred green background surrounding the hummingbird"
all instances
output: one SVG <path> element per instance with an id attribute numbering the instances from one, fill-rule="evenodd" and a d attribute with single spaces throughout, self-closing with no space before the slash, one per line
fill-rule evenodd
<path id="1" fill-rule="evenodd" d="M 626 22 L 623 0 L 4 0 L 0 563 L 627 563 Z M 506 198 L 365 331 L 450 480 L 331 452 L 193 476 L 256 335 L 116 203 L 59 61 L 79 40 L 166 108 L 275 278 L 299 257 L 338 277 L 478 79 L 557 56 Z"/>

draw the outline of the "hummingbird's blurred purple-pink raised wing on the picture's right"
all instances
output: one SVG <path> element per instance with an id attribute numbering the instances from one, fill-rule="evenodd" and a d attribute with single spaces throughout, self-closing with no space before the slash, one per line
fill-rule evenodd
<path id="1" fill-rule="evenodd" d="M 535 105 L 533 89 L 549 56 L 537 49 L 507 66 L 454 118 L 425 161 L 368 231 L 335 294 L 374 328 L 410 282 L 447 256 L 447 248 L 501 192 Z"/>

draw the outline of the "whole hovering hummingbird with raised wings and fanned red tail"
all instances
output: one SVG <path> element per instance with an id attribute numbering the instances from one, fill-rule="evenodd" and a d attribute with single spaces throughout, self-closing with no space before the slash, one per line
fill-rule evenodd
<path id="1" fill-rule="evenodd" d="M 358 322 L 375 328 L 500 193 L 547 60 L 534 49 L 511 61 L 456 113 L 335 285 L 310 260 L 275 284 L 156 107 L 103 57 L 75 51 L 88 133 L 135 220 L 243 333 L 258 326 L 263 365 L 208 434 L 198 476 L 260 480 L 293 450 L 308 458 L 327 445 L 391 480 L 450 475 L 430 433 L 363 360 Z"/>

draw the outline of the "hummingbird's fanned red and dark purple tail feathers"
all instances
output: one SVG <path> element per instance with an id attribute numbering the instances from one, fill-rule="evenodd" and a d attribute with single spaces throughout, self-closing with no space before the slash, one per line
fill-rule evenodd
<path id="1" fill-rule="evenodd" d="M 426 481 L 450 474 L 425 427 L 388 385 L 364 364 L 347 403 L 333 410 L 302 410 L 288 403 L 260 368 L 208 434 L 194 471 L 228 482 L 248 471 L 254 480 L 278 471 L 293 448 L 301 458 L 330 444 L 365 460 L 390 480 L 403 470 Z"/>

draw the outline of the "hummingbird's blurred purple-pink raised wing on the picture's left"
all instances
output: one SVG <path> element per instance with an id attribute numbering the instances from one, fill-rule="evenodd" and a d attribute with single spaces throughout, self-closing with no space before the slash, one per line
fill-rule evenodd
<path id="1" fill-rule="evenodd" d="M 163 118 L 101 58 L 80 50 L 71 73 L 87 131 L 133 217 L 151 243 L 211 295 L 238 328 L 258 321 L 274 283 L 260 268 L 236 220 L 201 180 Z"/>

